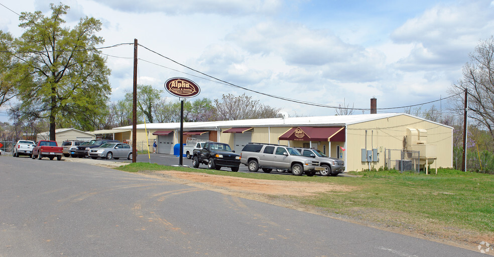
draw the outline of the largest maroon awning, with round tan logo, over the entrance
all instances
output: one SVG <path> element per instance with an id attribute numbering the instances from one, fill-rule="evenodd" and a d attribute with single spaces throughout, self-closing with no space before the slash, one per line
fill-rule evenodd
<path id="1" fill-rule="evenodd" d="M 297 127 L 291 128 L 278 140 L 295 140 L 295 141 L 325 141 L 325 142 L 344 142 L 344 127 Z"/>

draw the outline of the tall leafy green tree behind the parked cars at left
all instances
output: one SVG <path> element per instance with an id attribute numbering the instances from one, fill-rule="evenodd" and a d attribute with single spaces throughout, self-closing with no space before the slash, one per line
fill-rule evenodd
<path id="1" fill-rule="evenodd" d="M 22 13 L 25 32 L 14 40 L 16 74 L 28 74 L 30 81 L 19 86 L 18 98 L 25 115 L 47 118 L 50 139 L 55 140 L 57 121 L 77 121 L 79 129 L 91 130 L 106 112 L 110 94 L 106 59 L 96 46 L 101 22 L 84 17 L 70 29 L 63 17 L 68 6 L 50 4 L 52 14 Z"/>

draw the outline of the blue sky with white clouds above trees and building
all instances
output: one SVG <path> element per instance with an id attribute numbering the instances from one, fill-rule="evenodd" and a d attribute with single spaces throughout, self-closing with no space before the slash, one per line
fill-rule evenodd
<path id="1" fill-rule="evenodd" d="M 0 6 L 0 30 L 21 36 L 17 14 L 42 11 L 49 16 L 52 2 L 0 0 L 10 9 Z M 290 116 L 336 113 L 299 101 L 369 109 L 374 97 L 378 112 L 403 112 L 379 109 L 447 98 L 462 78 L 469 54 L 494 34 L 493 0 L 62 3 L 71 7 L 65 17 L 70 27 L 84 16 L 102 22 L 97 34 L 105 40 L 102 47 L 138 40 L 138 84 L 164 90 L 169 78 L 184 77 L 201 88 L 196 98 L 245 93 Z M 132 90 L 133 51 L 131 45 L 102 50 L 111 69 L 111 101 Z M 162 56 L 249 90 L 215 82 Z M 178 101 L 166 91 L 162 96 Z M 434 105 L 445 109 L 447 102 Z M 354 111 L 361 113 L 369 111 Z M 5 109 L 0 110 L 0 120 L 6 118 Z"/>

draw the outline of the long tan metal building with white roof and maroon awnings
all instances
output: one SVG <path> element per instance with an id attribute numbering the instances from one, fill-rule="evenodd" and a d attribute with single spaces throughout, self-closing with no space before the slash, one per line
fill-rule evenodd
<path id="1" fill-rule="evenodd" d="M 173 146 L 180 142 L 180 123 L 146 127 L 147 131 L 144 124 L 137 126 L 137 141 L 145 142 L 147 133 L 148 142 L 157 140 L 159 153 L 173 154 Z M 408 164 L 453 166 L 453 128 L 403 113 L 186 122 L 184 132 L 184 143 L 187 137 L 198 137 L 228 143 L 237 153 L 248 142 L 317 148 L 343 159 L 346 171 Z M 122 139 L 130 141 L 132 133 L 126 136 Z"/>

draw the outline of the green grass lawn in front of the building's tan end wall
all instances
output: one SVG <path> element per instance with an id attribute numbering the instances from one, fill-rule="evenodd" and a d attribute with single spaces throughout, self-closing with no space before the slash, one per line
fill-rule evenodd
<path id="1" fill-rule="evenodd" d="M 351 187 L 346 192 L 325 192 L 311 197 L 291 197 L 300 203 L 329 213 L 387 223 L 394 226 L 466 229 L 494 232 L 494 176 L 481 173 L 439 169 L 438 174 L 400 173 L 398 171 L 348 172 L 355 176 L 307 177 L 277 174 L 209 171 L 186 167 L 133 163 L 119 170 L 179 170 L 216 175 L 312 181 Z M 435 227 L 437 225 L 437 227 Z"/>

